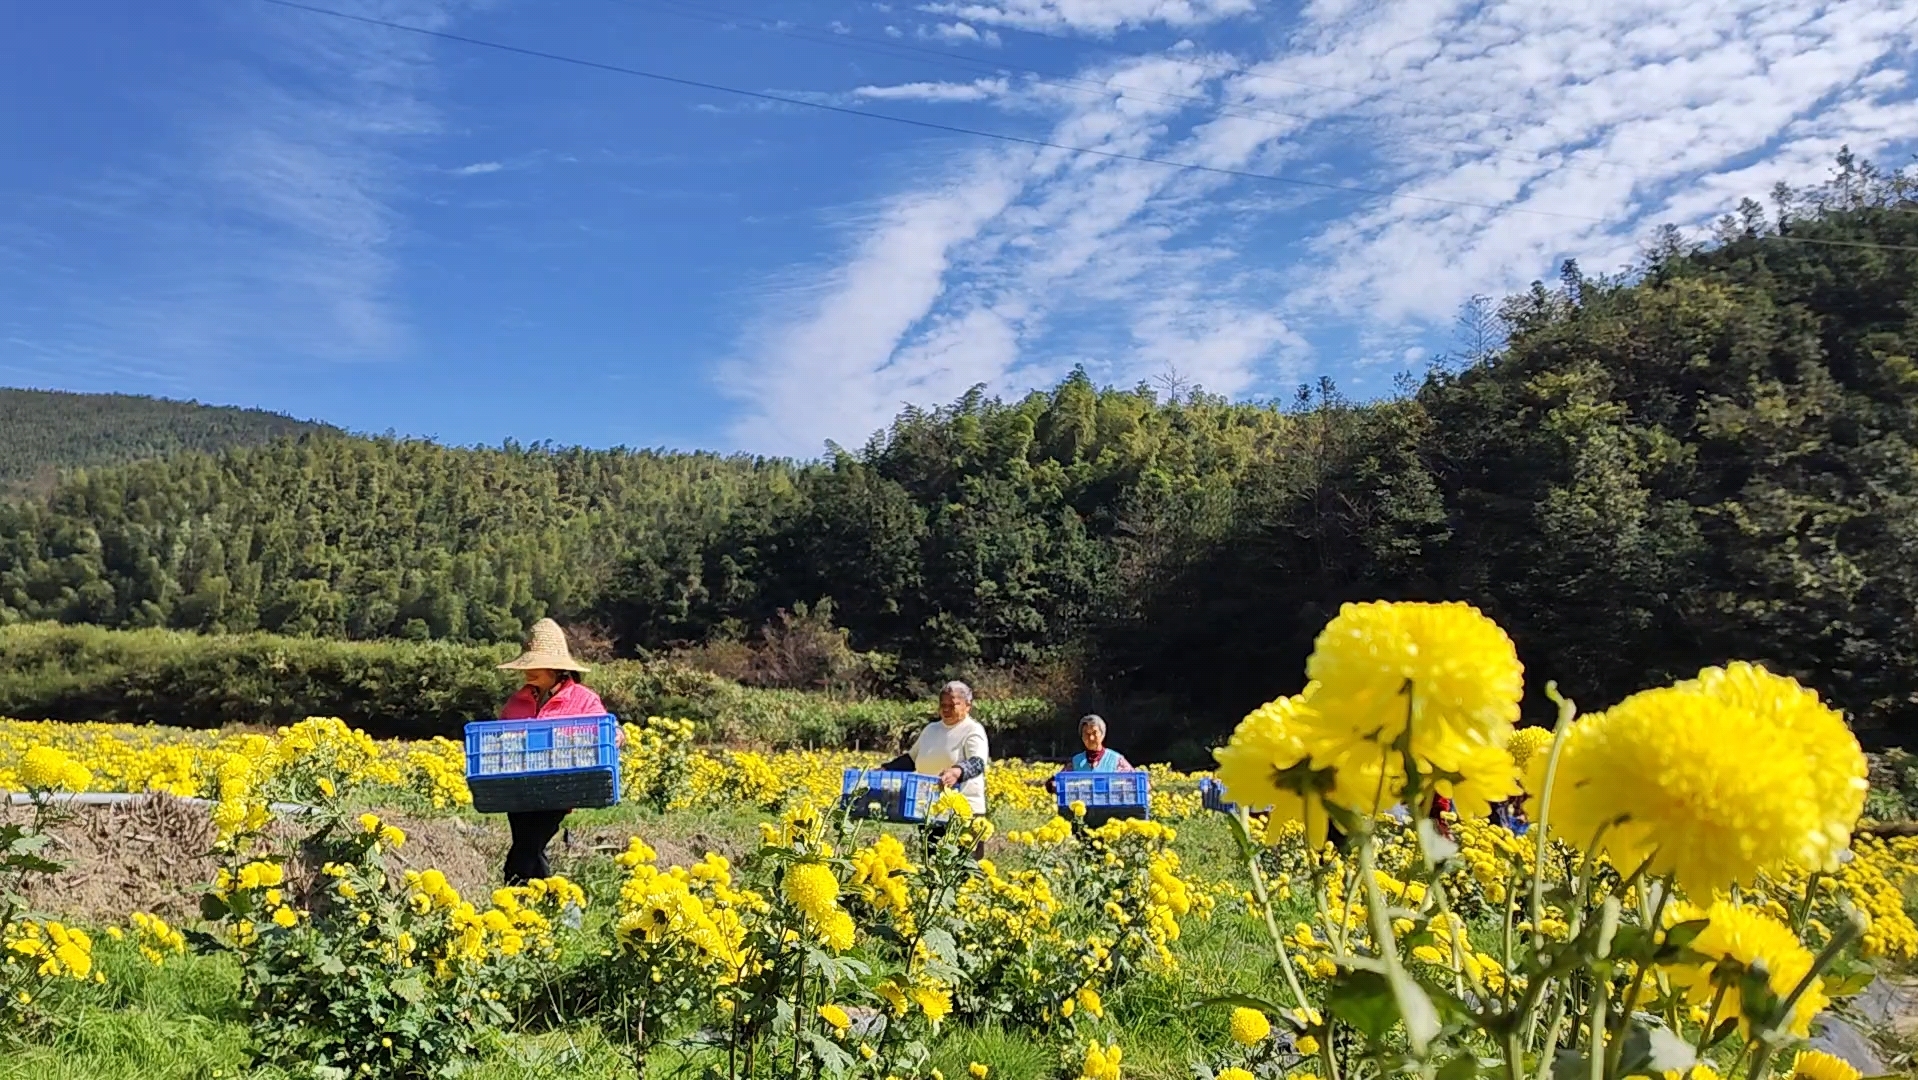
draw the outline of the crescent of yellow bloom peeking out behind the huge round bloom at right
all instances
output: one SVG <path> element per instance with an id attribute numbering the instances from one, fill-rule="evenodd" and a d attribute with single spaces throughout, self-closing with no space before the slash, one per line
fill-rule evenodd
<path id="1" fill-rule="evenodd" d="M 1797 679 L 1772 675 L 1743 660 L 1726 668 L 1707 668 L 1697 679 L 1678 687 L 1722 700 L 1761 723 L 1789 733 L 1807 760 L 1805 769 L 1820 817 L 1820 831 L 1813 838 L 1814 856 L 1807 865 L 1836 873 L 1843 852 L 1851 848 L 1851 829 L 1864 813 L 1864 796 L 1870 788 L 1864 750 L 1845 725 L 1845 717 Z"/>

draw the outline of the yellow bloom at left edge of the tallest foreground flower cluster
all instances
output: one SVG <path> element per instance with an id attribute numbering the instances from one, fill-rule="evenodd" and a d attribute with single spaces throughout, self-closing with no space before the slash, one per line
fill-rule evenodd
<path id="1" fill-rule="evenodd" d="M 1325 842 L 1320 794 L 1329 790 L 1331 775 L 1314 771 L 1306 760 L 1302 735 L 1310 717 L 1304 694 L 1266 702 L 1241 719 L 1231 740 L 1212 756 L 1226 798 L 1247 810 L 1272 808 L 1277 821 L 1304 823 L 1306 840 L 1316 848 Z M 1266 829 L 1274 844 L 1279 834 L 1279 829 Z"/>

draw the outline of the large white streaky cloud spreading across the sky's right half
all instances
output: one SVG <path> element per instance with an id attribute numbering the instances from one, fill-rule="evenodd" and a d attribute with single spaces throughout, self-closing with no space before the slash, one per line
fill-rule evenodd
<path id="1" fill-rule="evenodd" d="M 1251 8 L 923 6 L 1089 35 Z M 1112 380 L 1176 368 L 1226 393 L 1414 363 L 1473 293 L 1565 257 L 1615 269 L 1657 223 L 1709 221 L 1814 178 L 1839 144 L 1885 155 L 1918 132 L 1918 10 L 1903 0 L 1314 0 L 1260 29 L 1275 42 L 1260 56 L 1180 44 L 1082 69 L 1070 88 L 859 88 L 1041 107 L 1051 142 L 1354 192 L 978 152 L 907 180 L 855 219 L 842 261 L 771 292 L 731 376 L 746 403 L 735 437 L 815 453 L 900 401 L 1017 391 L 1070 363 Z"/>

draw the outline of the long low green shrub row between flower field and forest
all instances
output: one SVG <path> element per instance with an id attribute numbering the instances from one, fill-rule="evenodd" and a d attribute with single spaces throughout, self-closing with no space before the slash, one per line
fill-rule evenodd
<path id="1" fill-rule="evenodd" d="M 88 625 L 0 627 L 0 716 L 224 727 L 336 716 L 384 739 L 458 737 L 495 716 L 516 679 L 512 646 L 196 635 Z M 930 700 L 846 700 L 761 691 L 677 664 L 614 660 L 587 683 L 623 717 L 677 716 L 710 740 L 750 746 L 892 750 L 934 716 Z M 980 700 L 999 752 L 1076 742 L 1063 710 L 1038 698 Z"/>

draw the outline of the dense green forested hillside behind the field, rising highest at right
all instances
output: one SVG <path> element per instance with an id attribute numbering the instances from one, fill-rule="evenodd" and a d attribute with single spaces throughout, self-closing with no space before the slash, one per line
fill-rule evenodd
<path id="1" fill-rule="evenodd" d="M 1592 708 L 1751 658 L 1901 740 L 1903 175 L 1841 157 L 1711 244 L 1671 230 L 1619 276 L 1565 265 L 1475 330 L 1383 401 L 1076 372 L 909 409 L 815 462 L 326 430 L 182 447 L 0 505 L 0 622 L 497 643 L 552 614 L 656 656 L 752 646 L 804 604 L 890 691 L 999 675 L 1224 725 L 1298 689 L 1341 602 L 1460 599 L 1511 631 L 1529 685 Z"/>

